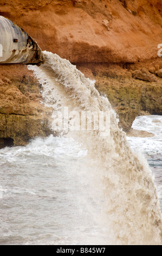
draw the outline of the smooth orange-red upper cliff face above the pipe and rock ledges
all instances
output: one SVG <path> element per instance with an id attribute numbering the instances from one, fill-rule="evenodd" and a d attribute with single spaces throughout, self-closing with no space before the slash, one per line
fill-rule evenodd
<path id="1" fill-rule="evenodd" d="M 0 14 L 72 63 L 134 63 L 162 43 L 161 0 L 1 0 Z"/>

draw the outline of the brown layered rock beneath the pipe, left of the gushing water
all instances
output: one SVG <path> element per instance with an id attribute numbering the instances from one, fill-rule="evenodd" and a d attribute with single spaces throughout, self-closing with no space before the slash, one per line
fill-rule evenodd
<path id="1" fill-rule="evenodd" d="M 1 65 L 0 148 L 26 145 L 31 138 L 53 133 L 50 109 L 41 104 L 39 86 L 26 66 Z"/>

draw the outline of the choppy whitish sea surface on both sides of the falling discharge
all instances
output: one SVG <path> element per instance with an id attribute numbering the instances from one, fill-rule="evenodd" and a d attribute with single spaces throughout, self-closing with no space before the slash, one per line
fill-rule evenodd
<path id="1" fill-rule="evenodd" d="M 161 203 L 161 116 L 138 117 L 134 129 L 154 137 L 128 138 L 144 154 Z M 106 245 L 108 229 L 90 196 L 87 150 L 73 138 L 34 139 L 0 150 L 0 245 Z M 162 206 L 162 205 L 161 205 Z"/>

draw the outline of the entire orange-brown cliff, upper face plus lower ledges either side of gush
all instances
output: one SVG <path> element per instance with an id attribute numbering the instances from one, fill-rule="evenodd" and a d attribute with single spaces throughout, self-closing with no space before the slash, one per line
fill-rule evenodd
<path id="1" fill-rule="evenodd" d="M 124 131 L 139 114 L 162 114 L 162 0 L 0 0 L 0 15 L 95 78 Z M 40 100 L 25 66 L 0 65 L 0 148 L 51 132 Z"/>

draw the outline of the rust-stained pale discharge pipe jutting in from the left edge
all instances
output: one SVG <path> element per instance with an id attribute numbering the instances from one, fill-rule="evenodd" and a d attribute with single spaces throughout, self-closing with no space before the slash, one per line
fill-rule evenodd
<path id="1" fill-rule="evenodd" d="M 44 55 L 37 42 L 14 22 L 0 16 L 0 64 L 41 65 Z"/>

